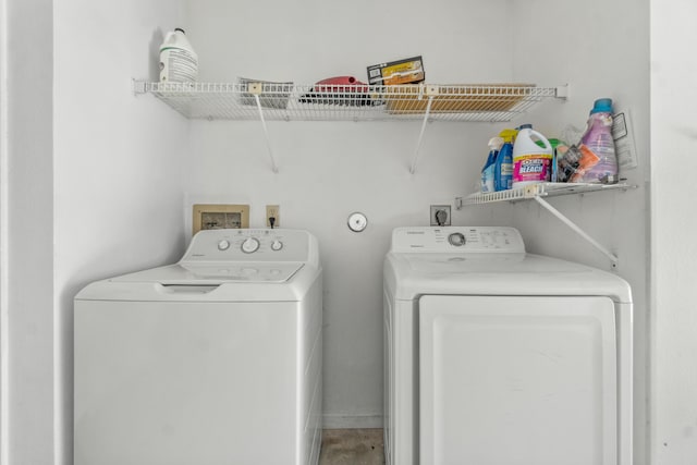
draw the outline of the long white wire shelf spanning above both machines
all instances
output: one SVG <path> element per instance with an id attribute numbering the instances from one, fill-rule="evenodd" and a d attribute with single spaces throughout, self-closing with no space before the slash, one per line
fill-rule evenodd
<path id="1" fill-rule="evenodd" d="M 188 119 L 267 121 L 511 121 L 567 87 L 134 82 Z"/>

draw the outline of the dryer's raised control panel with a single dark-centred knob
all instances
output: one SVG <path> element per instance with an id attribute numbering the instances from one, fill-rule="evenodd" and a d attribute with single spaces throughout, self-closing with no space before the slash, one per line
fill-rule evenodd
<path id="1" fill-rule="evenodd" d="M 395 253 L 505 253 L 523 254 L 521 233 L 504 227 L 414 227 L 392 232 Z"/>

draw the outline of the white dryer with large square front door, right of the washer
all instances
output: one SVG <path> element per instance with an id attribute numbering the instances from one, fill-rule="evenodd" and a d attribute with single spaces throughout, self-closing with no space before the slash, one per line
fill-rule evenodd
<path id="1" fill-rule="evenodd" d="M 632 295 L 512 228 L 400 228 L 384 260 L 388 465 L 631 465 Z"/>

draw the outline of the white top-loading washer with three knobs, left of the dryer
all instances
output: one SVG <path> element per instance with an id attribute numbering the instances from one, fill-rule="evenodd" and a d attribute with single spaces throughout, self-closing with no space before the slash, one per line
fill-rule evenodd
<path id="1" fill-rule="evenodd" d="M 75 465 L 316 465 L 322 281 L 305 231 L 212 230 L 75 297 Z"/>

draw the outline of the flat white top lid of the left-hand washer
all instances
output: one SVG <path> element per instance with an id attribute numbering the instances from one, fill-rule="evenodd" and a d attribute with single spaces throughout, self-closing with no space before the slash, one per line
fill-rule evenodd
<path id="1" fill-rule="evenodd" d="M 115 282 L 155 282 L 163 285 L 210 285 L 230 282 L 282 283 L 303 268 L 301 262 L 228 261 L 175 264 L 113 278 Z"/>

